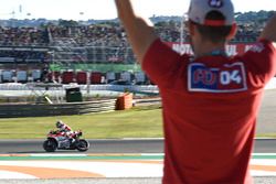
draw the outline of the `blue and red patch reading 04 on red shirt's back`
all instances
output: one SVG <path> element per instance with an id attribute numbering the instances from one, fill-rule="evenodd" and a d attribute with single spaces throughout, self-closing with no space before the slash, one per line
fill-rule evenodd
<path id="1" fill-rule="evenodd" d="M 189 91 L 236 93 L 247 90 L 243 63 L 225 64 L 220 68 L 202 63 L 191 63 L 188 67 Z"/>

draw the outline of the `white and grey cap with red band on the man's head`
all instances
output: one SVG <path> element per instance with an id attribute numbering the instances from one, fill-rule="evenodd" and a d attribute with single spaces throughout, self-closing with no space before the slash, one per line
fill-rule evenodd
<path id="1" fill-rule="evenodd" d="M 221 12 L 225 20 L 206 20 L 206 15 L 211 11 Z M 188 17 L 202 25 L 232 25 L 234 23 L 234 7 L 231 0 L 191 0 Z"/>

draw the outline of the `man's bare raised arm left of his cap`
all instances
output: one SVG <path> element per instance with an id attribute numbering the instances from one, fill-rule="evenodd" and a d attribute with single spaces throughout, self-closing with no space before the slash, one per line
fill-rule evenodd
<path id="1" fill-rule="evenodd" d="M 115 0 L 115 3 L 118 10 L 118 17 L 125 26 L 134 53 L 141 64 L 147 50 L 157 39 L 153 25 L 149 20 L 136 14 L 131 0 Z"/>

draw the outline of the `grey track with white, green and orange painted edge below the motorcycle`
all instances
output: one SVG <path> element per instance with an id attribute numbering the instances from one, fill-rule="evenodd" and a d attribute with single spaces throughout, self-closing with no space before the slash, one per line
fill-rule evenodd
<path id="1" fill-rule="evenodd" d="M 92 149 L 86 155 L 77 151 L 44 154 L 42 142 L 1 140 L 0 184 L 161 183 L 162 139 L 89 140 Z M 251 161 L 254 184 L 276 182 L 275 145 L 276 140 L 256 140 L 255 154 Z M 138 154 L 142 152 L 148 153 Z"/>

